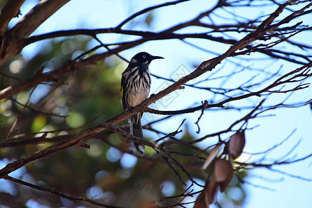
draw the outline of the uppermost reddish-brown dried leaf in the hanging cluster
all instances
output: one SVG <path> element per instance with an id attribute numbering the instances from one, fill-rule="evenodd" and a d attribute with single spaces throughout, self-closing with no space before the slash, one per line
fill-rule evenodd
<path id="1" fill-rule="evenodd" d="M 236 132 L 228 141 L 228 155 L 231 159 L 236 159 L 241 155 L 245 146 L 245 132 Z"/>

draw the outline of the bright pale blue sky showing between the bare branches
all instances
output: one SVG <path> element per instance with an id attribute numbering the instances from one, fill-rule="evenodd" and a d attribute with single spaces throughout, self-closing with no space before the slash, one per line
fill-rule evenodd
<path id="1" fill-rule="evenodd" d="M 152 22 L 152 28 L 154 31 L 165 29 L 173 24 L 180 23 L 182 21 L 187 21 L 196 17 L 200 11 L 207 10 L 211 8 L 214 1 L 204 1 L 195 0 L 198 3 L 181 3 L 178 6 L 171 6 L 163 8 L 161 10 L 156 10 L 155 19 Z M 63 8 L 61 8 L 55 15 L 49 18 L 42 26 L 40 26 L 34 34 L 48 33 L 55 30 L 66 30 L 75 28 L 109 28 L 117 26 L 123 19 L 129 17 L 132 13 L 147 8 L 149 6 L 157 5 L 165 1 L 83 1 L 75 0 L 67 3 Z M 35 5 L 36 1 L 28 0 L 21 8 L 21 12 L 26 14 L 27 10 L 30 10 Z M 190 6 L 192 4 L 192 6 Z M 194 6 L 195 5 L 195 6 Z M 196 6 L 197 5 L 197 6 Z M 266 8 L 266 14 L 273 12 L 275 8 Z M 178 12 L 176 12 L 178 11 Z M 248 8 L 242 11 L 233 10 L 233 12 L 244 12 L 247 17 L 264 15 L 263 10 L 257 12 L 250 12 Z M 262 13 L 261 13 L 262 12 Z M 140 19 L 142 17 L 138 17 Z M 216 19 L 218 19 L 216 17 Z M 311 24 L 311 19 L 305 19 L 306 24 Z M 17 21 L 17 20 L 15 20 Z M 10 24 L 14 24 L 12 21 Z M 209 19 L 207 19 L 209 21 Z M 225 19 L 218 19 L 218 24 L 223 23 L 223 21 L 228 21 Z M 125 28 L 137 29 L 137 30 L 147 30 L 145 25 L 127 24 Z M 194 32 L 194 28 L 190 28 L 190 31 Z M 205 30 L 196 28 L 196 33 L 203 32 Z M 300 42 L 311 42 L 311 32 L 308 35 L 300 35 L 297 41 Z M 310 37 L 309 37 L 310 36 Z M 122 35 L 99 35 L 100 39 L 105 42 L 115 42 L 120 40 L 125 40 L 125 36 Z M 133 38 L 133 37 L 132 37 Z M 207 42 L 203 40 L 187 40 L 194 44 L 198 44 L 205 49 L 214 51 L 215 53 L 223 53 L 228 49 L 228 46 L 215 44 L 212 42 Z M 37 47 L 42 43 L 32 44 L 27 46 L 23 55 L 26 57 L 31 57 L 33 52 L 37 50 Z M 96 43 L 95 43 L 96 44 Z M 295 49 L 291 49 L 295 50 Z M 153 55 L 161 55 L 165 60 L 155 61 L 151 65 L 151 72 L 158 76 L 176 76 L 181 70 L 192 71 L 194 70 L 193 64 L 199 64 L 203 60 L 208 60 L 213 58 L 212 53 L 203 53 L 199 49 L 194 49 L 192 46 L 181 43 L 179 40 L 167 40 L 158 42 L 149 42 L 147 44 L 140 45 L 134 49 L 129 49 L 120 53 L 125 58 L 130 59 L 134 54 L 139 51 L 147 51 Z M 255 58 L 261 58 L 255 56 Z M 281 67 L 281 62 L 279 61 L 268 61 L 264 62 L 262 60 L 245 61 L 241 60 L 242 64 L 257 64 L 257 68 L 266 67 L 272 71 L 277 71 Z M 126 67 L 126 63 L 125 63 Z M 184 67 L 184 68 L 183 68 Z M 232 73 L 235 71 L 235 65 L 231 62 L 226 62 L 226 69 L 220 69 L 217 76 Z M 289 64 L 284 62 L 282 66 L 282 71 L 287 71 L 288 69 L 295 69 L 295 64 Z M 219 70 L 219 69 L 216 69 Z M 255 71 L 246 71 L 244 74 L 246 77 L 253 76 L 257 74 Z M 259 76 L 261 78 L 261 76 Z M 311 80 L 311 79 L 310 79 Z M 230 80 L 226 85 L 237 86 L 241 82 L 246 81 L 246 78 L 237 77 L 235 80 Z M 219 86 L 220 83 L 212 81 L 210 83 L 212 86 Z M 159 86 L 167 85 L 163 80 L 152 80 L 151 92 L 157 92 Z M 311 98 L 312 89 L 304 89 L 301 92 L 297 92 L 292 96 L 288 103 L 293 103 L 295 101 L 300 101 L 302 98 Z M 188 107 L 194 103 L 200 103 L 205 99 L 209 99 L 211 94 L 202 93 L 195 91 L 194 89 L 186 88 L 181 90 L 176 95 L 176 99 L 172 103 L 169 103 L 165 107 L 161 103 L 156 103 L 154 107 L 157 108 L 167 108 L 168 110 L 178 110 L 181 108 Z M 195 97 L 194 99 L 187 99 L 185 97 Z M 282 101 L 285 95 L 273 96 L 273 98 L 268 99 L 265 105 L 269 105 L 273 101 Z M 239 105 L 248 105 L 250 103 L 257 103 L 261 101 L 258 99 L 249 99 L 239 103 Z M 236 103 L 230 103 L 228 105 L 235 105 Z M 241 118 L 248 111 L 243 112 L 231 112 L 231 111 L 207 111 L 200 121 L 201 128 L 200 134 L 196 134 L 196 119 L 198 118 L 200 112 L 187 116 L 187 124 L 191 129 L 192 135 L 194 137 L 201 137 L 210 132 L 217 132 L 217 130 L 223 130 L 227 126 Z M 286 159 L 293 159 L 303 157 L 305 155 L 311 154 L 312 146 L 312 113 L 309 106 L 301 107 L 300 109 L 279 109 L 274 112 L 268 112 L 267 114 L 275 114 L 274 116 L 268 116 L 264 118 L 255 119 L 250 121 L 249 127 L 259 125 L 259 127 L 246 132 L 246 148 L 247 153 L 258 153 L 264 151 L 280 141 L 284 140 L 286 137 L 291 135 L 291 132 L 295 130 L 292 137 L 288 139 L 282 146 L 279 146 L 276 150 L 266 155 L 266 162 L 273 162 L 276 159 L 287 155 L 287 153 L 293 148 L 297 141 L 302 139 L 297 148 L 290 154 L 287 155 Z M 181 119 L 185 116 L 176 116 L 176 118 L 163 123 L 161 126 L 156 125 L 157 128 L 161 128 L 165 132 L 172 131 L 172 125 L 170 123 L 181 123 Z M 148 118 L 147 118 L 148 119 Z M 177 124 L 177 125 L 178 125 Z M 149 132 L 145 132 L 149 134 Z M 153 135 L 151 135 L 153 136 Z M 226 138 L 223 138 L 226 139 Z M 203 145 L 213 144 L 213 141 L 206 141 Z M 263 155 L 262 155 L 263 156 Z M 250 161 L 255 161 L 259 159 L 256 155 L 242 155 L 241 159 L 248 159 Z M 297 164 L 292 164 L 289 166 L 275 166 L 279 171 L 285 171 L 286 173 L 291 173 L 292 175 L 300 175 L 301 177 L 312 178 L 312 160 L 307 159 L 303 162 L 298 162 Z M 288 177 L 286 175 L 281 175 L 279 173 L 273 173 L 266 170 L 265 168 L 257 168 L 250 172 L 250 176 L 247 178 L 248 182 L 261 187 L 267 187 L 268 189 L 261 189 L 253 187 L 246 184 L 245 188 L 248 191 L 248 197 L 246 203 L 243 207 L 309 207 L 311 206 L 312 198 L 312 182 L 307 182 L 305 180 L 299 180 L 295 177 Z"/>

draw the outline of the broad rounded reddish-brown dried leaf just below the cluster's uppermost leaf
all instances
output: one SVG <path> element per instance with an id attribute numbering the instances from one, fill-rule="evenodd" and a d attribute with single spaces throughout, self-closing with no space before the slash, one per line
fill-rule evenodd
<path id="1" fill-rule="evenodd" d="M 214 164 L 214 178 L 220 184 L 221 191 L 224 191 L 233 177 L 233 168 L 226 159 L 218 159 Z"/>

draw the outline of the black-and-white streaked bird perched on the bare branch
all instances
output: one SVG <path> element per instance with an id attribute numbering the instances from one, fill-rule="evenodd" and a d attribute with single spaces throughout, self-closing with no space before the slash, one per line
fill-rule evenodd
<path id="1" fill-rule="evenodd" d="M 124 111 L 131 110 L 149 96 L 149 89 L 151 88 L 149 64 L 155 59 L 163 59 L 163 57 L 154 56 L 147 52 L 137 53 L 131 58 L 125 71 L 122 72 L 120 91 Z M 141 139 L 143 139 L 142 116 L 143 113 L 138 113 L 128 118 L 130 134 Z M 131 148 L 136 150 L 138 155 L 143 156 L 145 145 L 136 141 L 131 141 L 130 143 Z"/>

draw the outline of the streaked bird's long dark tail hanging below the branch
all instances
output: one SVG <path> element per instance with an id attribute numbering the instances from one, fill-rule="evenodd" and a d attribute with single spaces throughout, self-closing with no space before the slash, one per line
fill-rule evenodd
<path id="1" fill-rule="evenodd" d="M 131 116 L 130 120 L 130 134 L 134 137 L 140 137 L 143 139 L 140 114 L 135 114 Z M 131 141 L 131 147 L 134 148 L 140 156 L 142 156 L 145 151 L 145 145 L 140 144 L 136 141 Z"/>

